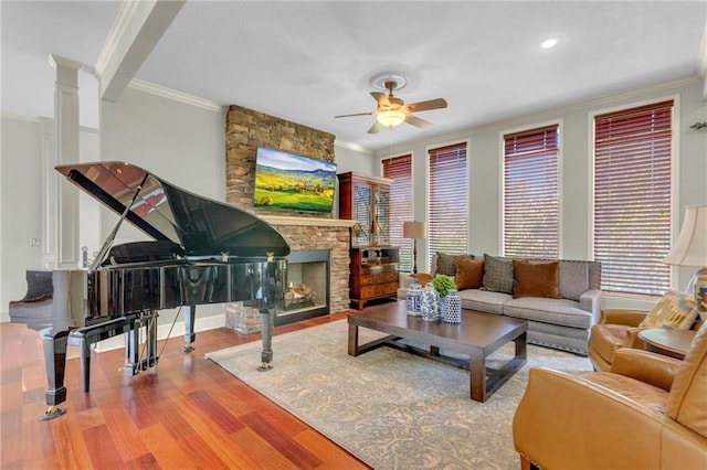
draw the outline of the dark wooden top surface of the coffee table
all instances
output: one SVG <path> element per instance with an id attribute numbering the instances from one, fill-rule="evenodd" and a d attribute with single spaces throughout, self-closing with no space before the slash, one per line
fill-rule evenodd
<path id="1" fill-rule="evenodd" d="M 410 340 L 429 341 L 436 346 L 467 352 L 479 359 L 488 356 L 528 330 L 528 323 L 524 320 L 466 309 L 462 309 L 462 322 L 458 324 L 423 321 L 421 317 L 407 314 L 404 300 L 370 306 L 360 312 L 349 313 L 348 321 Z"/>

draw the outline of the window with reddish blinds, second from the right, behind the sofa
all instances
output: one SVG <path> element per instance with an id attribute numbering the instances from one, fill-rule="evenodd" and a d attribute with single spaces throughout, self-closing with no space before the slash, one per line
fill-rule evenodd
<path id="1" fill-rule="evenodd" d="M 559 132 L 547 126 L 504 136 L 504 254 L 559 258 Z"/>

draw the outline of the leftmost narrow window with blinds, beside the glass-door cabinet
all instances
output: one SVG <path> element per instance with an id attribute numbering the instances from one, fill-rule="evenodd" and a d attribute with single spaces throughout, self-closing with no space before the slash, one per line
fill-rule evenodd
<path id="1" fill-rule="evenodd" d="M 412 156 L 381 161 L 383 178 L 393 180 L 390 186 L 390 244 L 400 247 L 400 270 L 412 270 L 412 241 L 402 237 L 402 223 L 412 221 Z"/>

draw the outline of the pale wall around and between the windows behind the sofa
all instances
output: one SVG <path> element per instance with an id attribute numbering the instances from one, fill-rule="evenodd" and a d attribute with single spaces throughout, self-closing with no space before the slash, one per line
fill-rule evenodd
<path id="1" fill-rule="evenodd" d="M 685 79 L 662 84 L 629 94 L 601 97 L 558 109 L 549 109 L 531 116 L 489 124 L 454 135 L 419 140 L 398 146 L 393 154 L 413 154 L 413 210 L 415 220 L 426 217 L 426 152 L 428 148 L 447 143 L 469 141 L 469 235 L 471 253 L 500 254 L 502 246 L 502 136 L 519 128 L 532 128 L 542 124 L 559 122 L 561 129 L 561 253 L 566 259 L 591 259 L 591 148 L 592 113 L 616 107 L 629 107 L 663 98 L 676 99 L 675 136 L 675 204 L 679 214 L 674 223 L 674 237 L 682 225 L 684 207 L 689 204 L 707 203 L 707 132 L 689 129 L 696 121 L 707 120 L 707 103 L 703 99 L 703 83 Z M 384 154 L 383 154 L 384 153 Z M 378 152 L 378 160 L 387 158 L 390 150 Z M 377 164 L 376 174 L 380 174 Z M 428 246 L 418 245 L 420 270 L 428 270 Z M 673 280 L 675 288 L 685 288 L 695 269 L 676 269 Z M 604 296 L 605 307 L 651 307 L 652 300 L 630 296 Z"/>

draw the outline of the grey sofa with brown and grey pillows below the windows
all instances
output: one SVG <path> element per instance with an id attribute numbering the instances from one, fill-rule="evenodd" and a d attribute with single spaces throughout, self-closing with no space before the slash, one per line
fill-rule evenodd
<path id="1" fill-rule="evenodd" d="M 437 253 L 430 274 L 401 279 L 398 298 L 407 298 L 413 276 L 424 285 L 437 274 L 454 277 L 462 308 L 527 320 L 528 343 L 588 355 L 601 311 L 601 263 Z"/>

